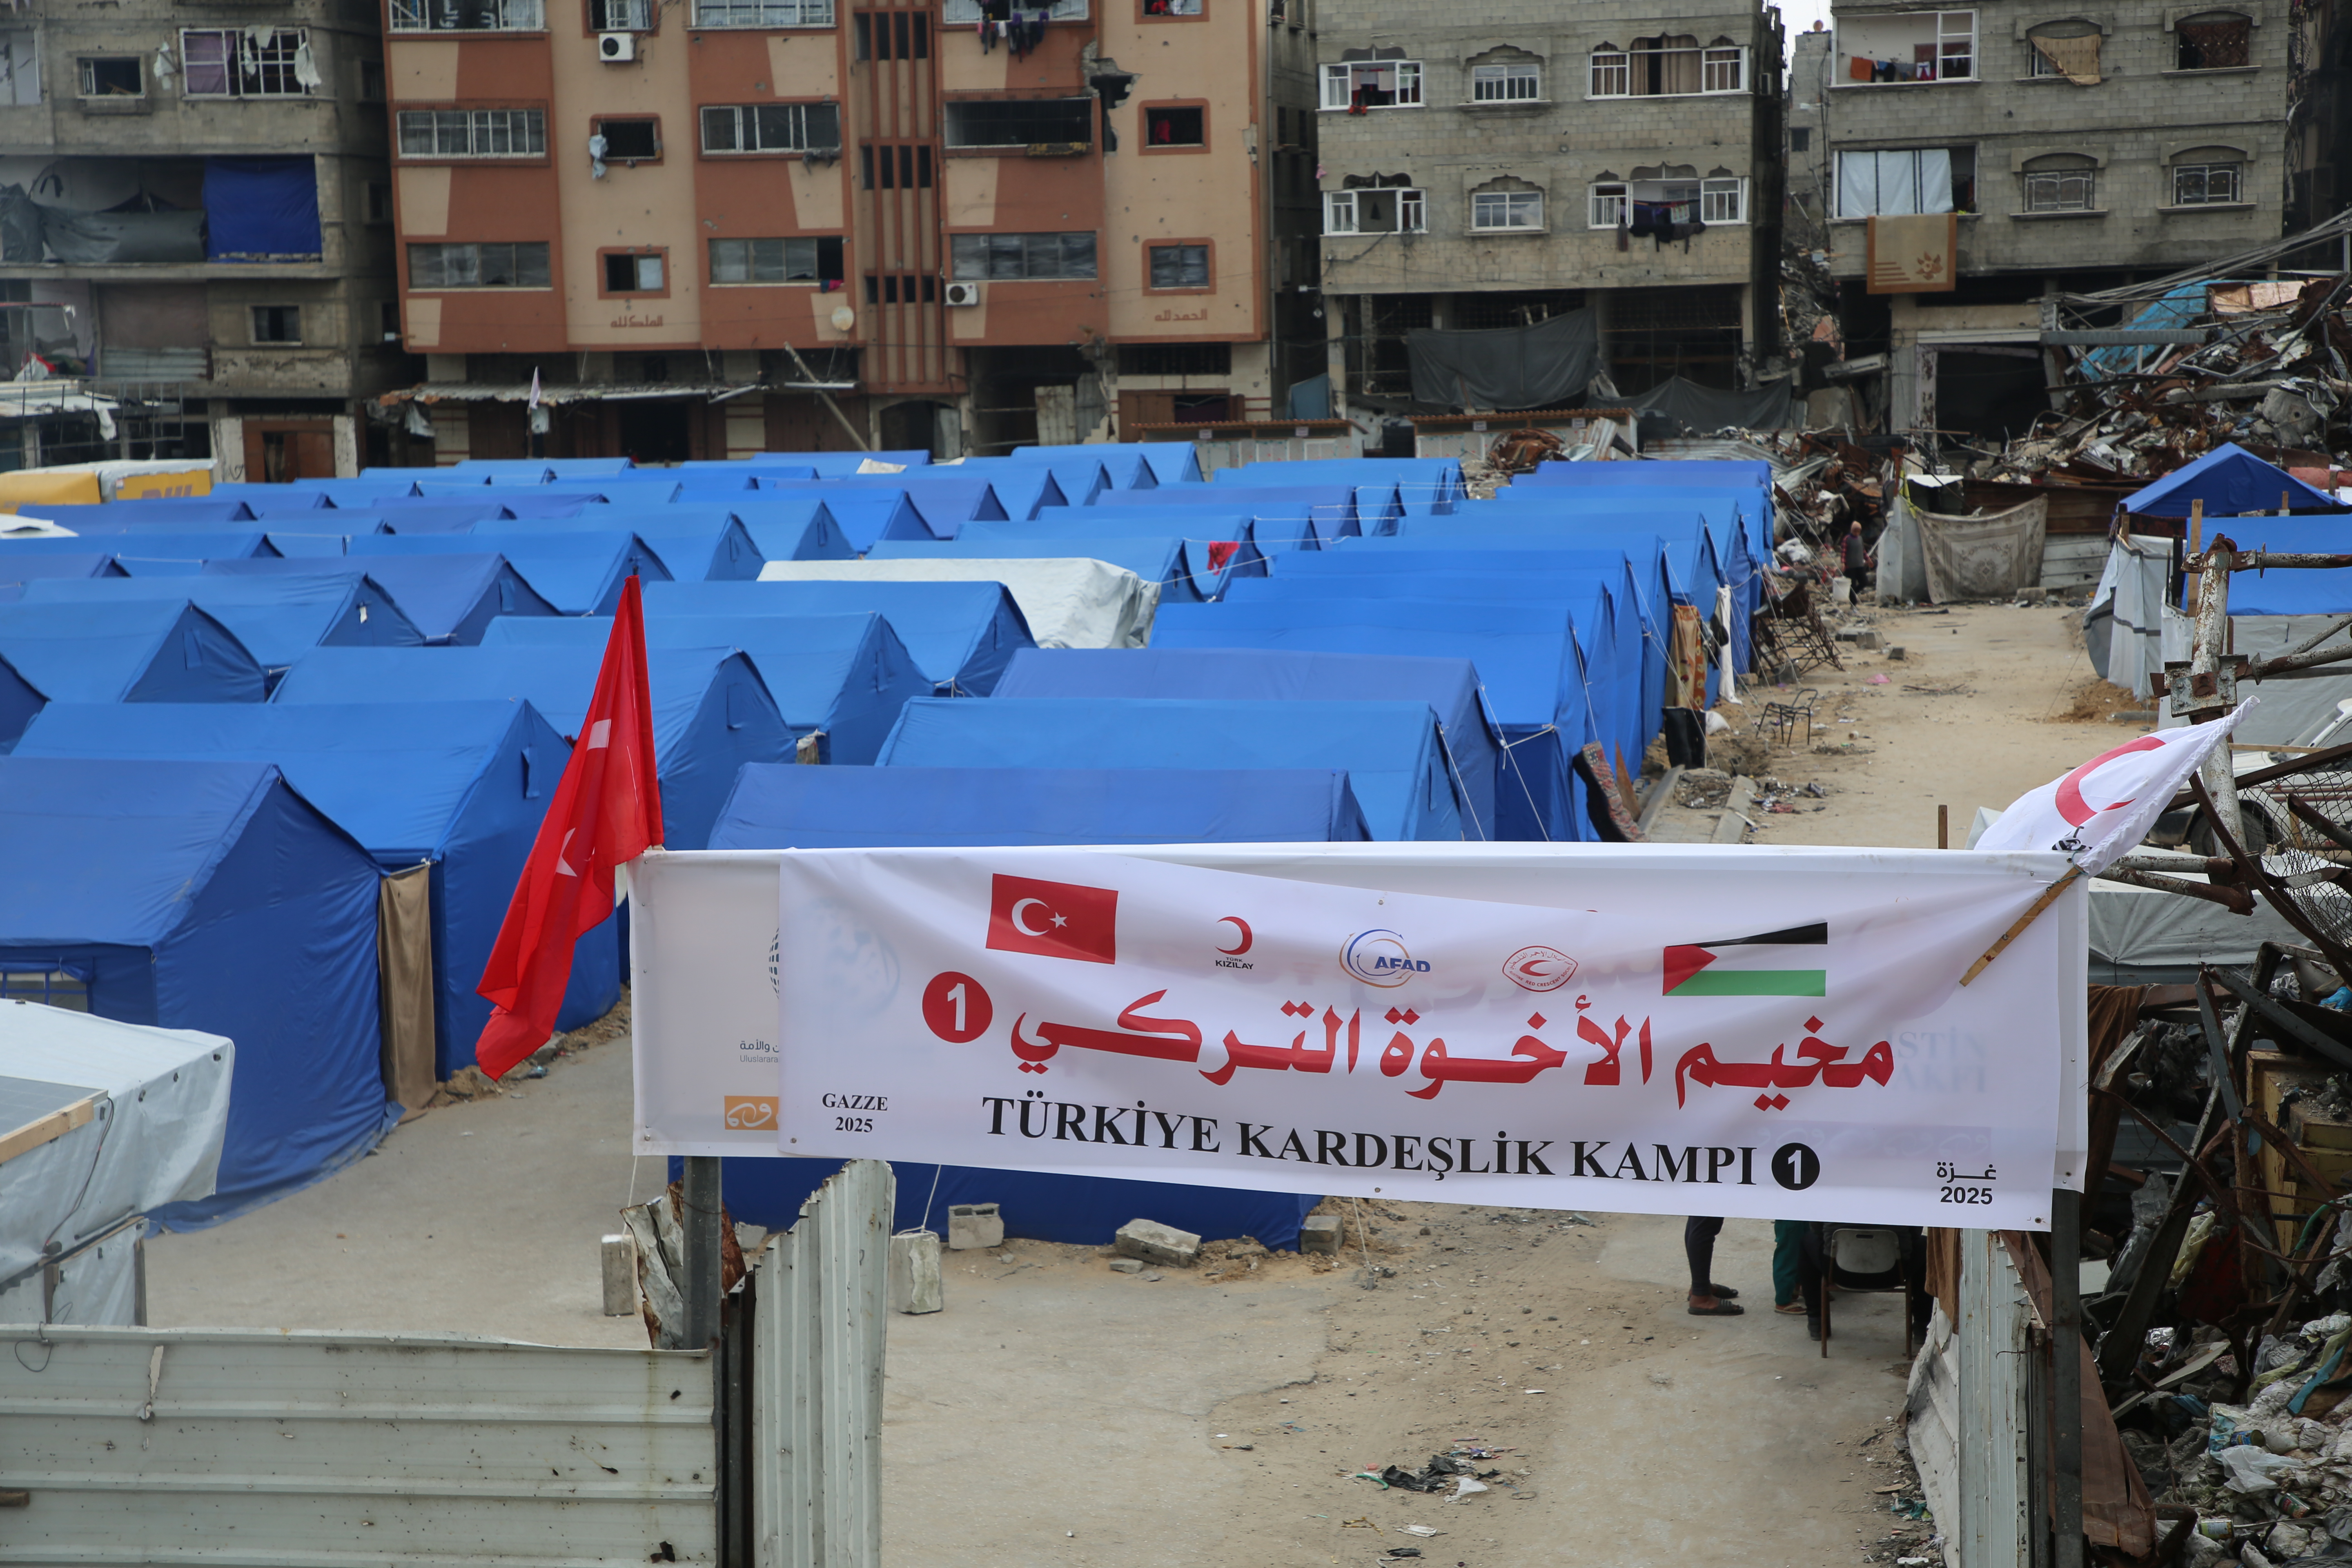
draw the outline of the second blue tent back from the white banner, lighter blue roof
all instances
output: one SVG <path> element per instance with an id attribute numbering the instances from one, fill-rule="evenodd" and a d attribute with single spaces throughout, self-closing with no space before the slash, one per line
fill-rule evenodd
<path id="1" fill-rule="evenodd" d="M 915 698 L 882 743 L 922 769 L 1317 769 L 1348 773 L 1376 839 L 1461 839 L 1428 703 Z"/>

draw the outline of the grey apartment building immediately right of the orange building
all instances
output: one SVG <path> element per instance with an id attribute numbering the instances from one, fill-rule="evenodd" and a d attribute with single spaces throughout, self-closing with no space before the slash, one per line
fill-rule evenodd
<path id="1" fill-rule="evenodd" d="M 1322 0 L 1334 386 L 1385 411 L 1752 388 L 1778 350 L 1780 75 L 1757 5 Z M 1454 336 L 1482 329 L 1536 336 Z"/>

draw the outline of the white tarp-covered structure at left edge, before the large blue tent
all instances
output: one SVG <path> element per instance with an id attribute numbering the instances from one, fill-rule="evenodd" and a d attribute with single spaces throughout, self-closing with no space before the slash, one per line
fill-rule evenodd
<path id="1" fill-rule="evenodd" d="M 219 1034 L 0 1001 L 0 1324 L 136 1321 L 136 1220 L 212 1194 L 233 1067 Z"/>

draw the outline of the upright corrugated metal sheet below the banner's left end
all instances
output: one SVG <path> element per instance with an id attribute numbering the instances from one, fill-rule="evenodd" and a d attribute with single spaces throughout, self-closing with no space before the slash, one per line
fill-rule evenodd
<path id="1" fill-rule="evenodd" d="M 757 1568 L 880 1568 L 891 1168 L 851 1159 L 755 1274 Z"/>

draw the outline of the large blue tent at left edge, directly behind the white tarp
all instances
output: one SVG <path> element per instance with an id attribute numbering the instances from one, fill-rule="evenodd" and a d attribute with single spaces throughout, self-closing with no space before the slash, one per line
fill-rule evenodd
<path id="1" fill-rule="evenodd" d="M 259 762 L 0 757 L 0 969 L 101 1018 L 235 1041 L 226 1220 L 350 1164 L 400 1119 L 376 1023 L 376 865 Z"/>

